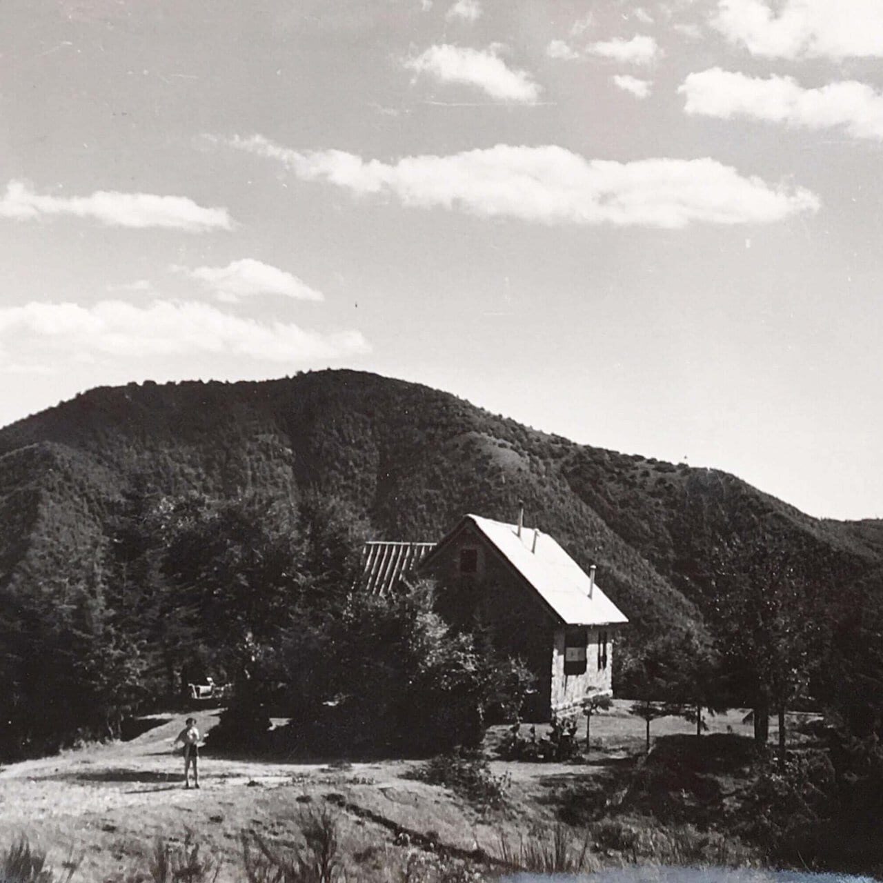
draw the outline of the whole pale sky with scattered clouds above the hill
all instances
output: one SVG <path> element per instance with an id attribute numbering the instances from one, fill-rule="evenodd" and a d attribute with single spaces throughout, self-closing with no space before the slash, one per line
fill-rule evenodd
<path id="1" fill-rule="evenodd" d="M 4 0 L 0 425 L 351 367 L 883 517 L 883 0 Z"/>

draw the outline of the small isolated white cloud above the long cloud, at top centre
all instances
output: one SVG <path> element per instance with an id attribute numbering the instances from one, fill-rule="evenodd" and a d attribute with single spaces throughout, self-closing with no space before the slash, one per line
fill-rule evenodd
<path id="1" fill-rule="evenodd" d="M 500 101 L 532 104 L 540 97 L 540 87 L 525 71 L 512 70 L 499 56 L 497 44 L 487 49 L 459 46 L 430 46 L 417 57 L 404 61 L 416 73 L 426 73 L 442 83 L 462 83 L 482 89 Z"/>

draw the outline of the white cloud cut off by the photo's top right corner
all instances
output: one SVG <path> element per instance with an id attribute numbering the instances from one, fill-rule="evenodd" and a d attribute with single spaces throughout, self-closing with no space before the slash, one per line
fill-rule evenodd
<path id="1" fill-rule="evenodd" d="M 757 56 L 883 57 L 880 0 L 718 0 L 712 24 Z"/>

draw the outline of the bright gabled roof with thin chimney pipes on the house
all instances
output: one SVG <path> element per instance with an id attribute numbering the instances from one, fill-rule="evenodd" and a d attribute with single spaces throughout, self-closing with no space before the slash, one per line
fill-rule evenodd
<path id="1" fill-rule="evenodd" d="M 464 515 L 438 547 L 442 547 L 466 523 L 472 523 L 493 544 L 565 625 L 628 623 L 597 582 L 592 586 L 588 574 L 547 533 L 537 532 L 534 547 L 533 528 L 522 528 L 519 537 L 517 525 L 479 515 Z"/>

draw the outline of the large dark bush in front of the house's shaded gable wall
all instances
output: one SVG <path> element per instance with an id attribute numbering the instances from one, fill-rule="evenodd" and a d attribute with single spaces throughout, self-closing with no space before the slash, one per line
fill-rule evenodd
<path id="1" fill-rule="evenodd" d="M 521 705 L 530 675 L 519 663 L 480 652 L 433 611 L 419 585 L 393 598 L 354 594 L 337 615 L 306 626 L 322 638 L 289 636 L 279 668 L 291 691 L 290 751 L 407 751 L 478 746 L 494 713 Z M 313 648 L 328 646 L 321 677 Z M 293 689 L 297 683 L 297 690 Z"/>

